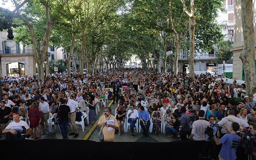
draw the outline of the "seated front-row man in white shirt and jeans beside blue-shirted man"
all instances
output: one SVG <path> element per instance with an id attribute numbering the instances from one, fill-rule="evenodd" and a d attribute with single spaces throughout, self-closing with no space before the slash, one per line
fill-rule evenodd
<path id="1" fill-rule="evenodd" d="M 136 120 L 139 118 L 139 112 L 138 110 L 135 110 L 135 107 L 133 104 L 130 105 L 130 110 L 127 112 L 127 118 L 128 118 L 128 123 L 131 124 L 131 133 L 132 137 L 134 137 L 134 132 L 137 131 L 135 127 Z"/>

